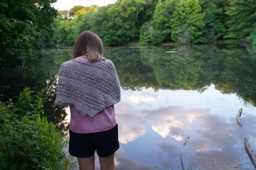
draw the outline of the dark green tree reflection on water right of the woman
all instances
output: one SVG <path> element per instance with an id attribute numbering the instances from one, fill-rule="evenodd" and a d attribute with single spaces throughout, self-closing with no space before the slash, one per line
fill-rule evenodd
<path id="1" fill-rule="evenodd" d="M 176 53 L 166 53 L 169 50 Z M 256 104 L 256 53 L 250 48 L 111 48 L 106 56 L 116 64 L 125 90 L 204 91 L 214 83 L 222 93 L 237 93 L 247 104 Z"/>

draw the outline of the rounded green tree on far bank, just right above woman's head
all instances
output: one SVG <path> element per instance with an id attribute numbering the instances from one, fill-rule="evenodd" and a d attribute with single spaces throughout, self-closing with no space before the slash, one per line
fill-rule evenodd
<path id="1" fill-rule="evenodd" d="M 138 23 L 140 12 L 146 5 L 145 0 L 117 1 L 105 7 L 100 7 L 92 17 L 90 30 L 97 33 L 106 45 L 121 45 L 132 39 L 138 39 Z"/>

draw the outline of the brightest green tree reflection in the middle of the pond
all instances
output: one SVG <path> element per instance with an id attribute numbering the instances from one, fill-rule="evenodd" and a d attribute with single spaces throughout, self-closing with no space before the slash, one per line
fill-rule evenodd
<path id="1" fill-rule="evenodd" d="M 177 53 L 143 52 L 143 60 L 149 60 L 160 87 L 194 89 L 198 87 L 203 62 L 201 53 L 190 47 L 178 47 Z M 146 58 L 145 58 L 146 57 Z"/>

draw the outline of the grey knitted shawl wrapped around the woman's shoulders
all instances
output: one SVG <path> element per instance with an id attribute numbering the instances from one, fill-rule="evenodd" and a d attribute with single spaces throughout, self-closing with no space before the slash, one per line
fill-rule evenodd
<path id="1" fill-rule="evenodd" d="M 55 104 L 74 106 L 90 119 L 120 101 L 120 83 L 111 60 L 90 62 L 85 58 L 66 61 L 58 74 Z"/>

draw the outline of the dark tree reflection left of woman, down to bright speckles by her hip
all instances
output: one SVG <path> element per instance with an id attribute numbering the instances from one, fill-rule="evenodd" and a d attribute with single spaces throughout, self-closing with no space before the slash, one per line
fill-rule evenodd
<path id="1" fill-rule="evenodd" d="M 41 57 L 34 56 L 33 60 L 26 61 L 23 69 L 18 66 L 6 66 L 1 68 L 0 76 L 0 99 L 18 98 L 18 94 L 25 87 L 30 87 L 35 93 L 41 88 L 47 89 L 44 99 L 44 112 L 47 120 L 53 122 L 58 129 L 67 129 L 68 125 L 63 123 L 66 112 L 54 105 L 56 98 L 56 75 L 60 64 L 69 60 L 71 51 L 46 51 Z"/>

